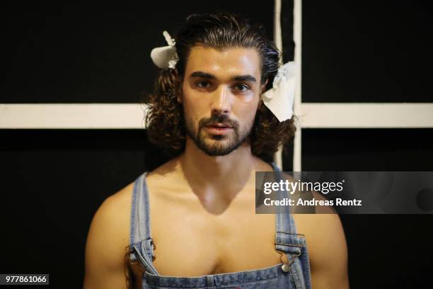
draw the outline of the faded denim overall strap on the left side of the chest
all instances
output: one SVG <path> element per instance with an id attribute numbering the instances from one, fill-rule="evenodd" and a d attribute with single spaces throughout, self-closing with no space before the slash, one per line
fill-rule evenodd
<path id="1" fill-rule="evenodd" d="M 154 241 L 150 236 L 149 192 L 146 186 L 146 172 L 134 182 L 131 208 L 131 229 L 129 249 L 131 261 L 141 261 L 146 271 L 157 274 L 152 260 L 154 258 Z"/>

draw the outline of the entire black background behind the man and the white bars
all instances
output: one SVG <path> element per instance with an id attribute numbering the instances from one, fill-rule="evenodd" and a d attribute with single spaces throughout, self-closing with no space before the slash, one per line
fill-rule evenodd
<path id="1" fill-rule="evenodd" d="M 273 1 L 8 4 L 10 70 L 0 103 L 136 103 L 151 90 L 157 70 L 149 53 L 164 45 L 162 30 L 173 34 L 187 14 L 217 8 L 264 23 L 272 37 Z M 431 102 L 431 26 L 428 1 L 304 1 L 303 101 Z M 79 288 L 94 212 L 166 156 L 142 130 L 0 134 L 0 272 L 50 273 L 51 288 Z M 432 135 L 432 129 L 304 129 L 302 166 L 432 171 Z M 291 160 L 284 155 L 284 169 Z M 431 287 L 431 215 L 341 218 L 351 288 Z"/>

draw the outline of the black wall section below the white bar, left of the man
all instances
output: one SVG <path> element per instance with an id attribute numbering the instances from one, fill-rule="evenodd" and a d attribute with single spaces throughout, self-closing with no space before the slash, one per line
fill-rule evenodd
<path id="1" fill-rule="evenodd" d="M 93 214 L 163 155 L 142 130 L 0 133 L 0 272 L 50 273 L 51 288 L 82 287 Z"/>

